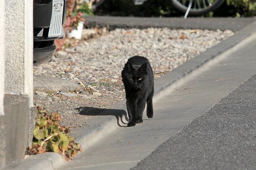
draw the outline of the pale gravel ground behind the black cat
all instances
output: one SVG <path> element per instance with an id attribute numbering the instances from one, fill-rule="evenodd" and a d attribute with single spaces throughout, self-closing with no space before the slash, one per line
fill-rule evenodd
<path id="1" fill-rule="evenodd" d="M 125 98 L 121 70 L 127 59 L 149 59 L 160 77 L 233 35 L 232 31 L 116 29 L 57 51 L 51 63 L 34 67 L 35 75 L 61 77 L 79 83 L 82 91 L 35 92 L 34 102 L 61 114 L 63 125 L 90 126 L 90 118 Z M 90 116 L 91 115 L 91 116 Z"/>

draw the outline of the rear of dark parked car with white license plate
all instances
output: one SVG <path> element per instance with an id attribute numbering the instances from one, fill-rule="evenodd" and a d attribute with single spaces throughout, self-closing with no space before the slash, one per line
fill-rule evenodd
<path id="1" fill-rule="evenodd" d="M 34 0 L 34 66 L 50 62 L 55 39 L 64 37 L 66 0 Z"/>

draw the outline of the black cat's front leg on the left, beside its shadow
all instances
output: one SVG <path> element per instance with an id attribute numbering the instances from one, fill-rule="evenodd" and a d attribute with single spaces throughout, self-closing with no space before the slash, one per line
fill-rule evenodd
<path id="1" fill-rule="evenodd" d="M 128 122 L 128 127 L 132 127 L 136 125 L 136 111 L 137 111 L 137 106 L 136 102 L 127 99 L 126 101 L 126 106 L 127 106 L 127 111 L 128 111 L 128 117 L 129 117 L 129 122 Z"/>

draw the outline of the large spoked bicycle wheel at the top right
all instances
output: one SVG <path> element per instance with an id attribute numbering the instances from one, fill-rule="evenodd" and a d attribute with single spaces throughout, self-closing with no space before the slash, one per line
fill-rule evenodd
<path id="1" fill-rule="evenodd" d="M 225 0 L 171 0 L 175 8 L 193 16 L 206 14 L 219 8 Z M 189 11 L 188 11 L 188 8 Z"/>

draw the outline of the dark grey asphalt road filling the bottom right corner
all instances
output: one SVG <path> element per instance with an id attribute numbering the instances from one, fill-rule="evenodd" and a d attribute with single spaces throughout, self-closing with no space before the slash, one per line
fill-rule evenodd
<path id="1" fill-rule="evenodd" d="M 256 75 L 133 170 L 256 170 Z"/>

